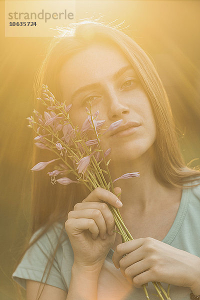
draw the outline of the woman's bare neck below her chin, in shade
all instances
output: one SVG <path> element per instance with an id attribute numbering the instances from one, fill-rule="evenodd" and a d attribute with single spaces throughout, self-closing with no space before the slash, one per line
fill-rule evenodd
<path id="1" fill-rule="evenodd" d="M 144 158 L 144 157 L 143 157 Z M 113 186 L 121 188 L 121 212 L 137 210 L 139 213 L 150 213 L 159 205 L 170 205 L 174 198 L 180 198 L 181 190 L 159 183 L 154 175 L 152 159 L 137 159 L 116 163 L 110 168 L 111 177 L 117 178 L 124 173 L 139 172 L 140 177 L 119 179 Z"/>

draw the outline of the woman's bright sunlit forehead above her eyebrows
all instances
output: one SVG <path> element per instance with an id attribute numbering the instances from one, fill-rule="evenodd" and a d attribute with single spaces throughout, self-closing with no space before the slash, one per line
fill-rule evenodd
<path id="1" fill-rule="evenodd" d="M 123 52 L 113 45 L 92 44 L 75 53 L 62 65 L 61 88 L 68 92 L 99 80 L 109 80 L 119 68 L 130 65 Z"/>

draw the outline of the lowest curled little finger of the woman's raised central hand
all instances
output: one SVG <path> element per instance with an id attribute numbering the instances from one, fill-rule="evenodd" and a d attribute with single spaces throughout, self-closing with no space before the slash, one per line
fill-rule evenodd
<path id="1" fill-rule="evenodd" d="M 93 219 L 80 218 L 77 222 L 75 218 L 69 218 L 65 222 L 65 230 L 67 234 L 76 235 L 83 230 L 89 230 L 91 237 L 96 239 L 99 233 L 98 227 Z"/>

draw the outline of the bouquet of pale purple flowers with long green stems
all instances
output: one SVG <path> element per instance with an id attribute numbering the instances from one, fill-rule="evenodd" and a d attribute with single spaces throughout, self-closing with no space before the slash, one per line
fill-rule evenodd
<path id="1" fill-rule="evenodd" d="M 122 174 L 120 177 L 111 179 L 108 164 L 111 159 L 107 159 L 111 148 L 103 151 L 100 144 L 100 137 L 107 131 L 116 129 L 122 120 L 113 122 L 104 132 L 101 128 L 105 120 L 97 120 L 99 111 L 94 115 L 91 113 L 91 103 L 88 101 L 88 107 L 85 107 L 87 117 L 84 120 L 81 128 L 74 125 L 69 116 L 69 110 L 72 104 L 65 105 L 65 102 L 58 102 L 54 95 L 48 90 L 48 86 L 42 84 L 41 97 L 37 98 L 44 106 L 45 110 L 43 116 L 37 110 L 33 110 L 34 116 L 27 117 L 29 124 L 36 136 L 34 137 L 35 145 L 41 149 L 52 151 L 56 158 L 49 161 L 38 162 L 31 170 L 42 170 L 49 163 L 59 160 L 51 172 L 48 172 L 52 184 L 56 182 L 59 184 L 84 184 L 89 191 L 96 187 L 105 188 L 114 192 L 113 182 L 119 179 L 137 177 L 138 172 L 130 172 Z M 88 133 L 92 130 L 94 134 L 93 139 L 88 139 Z M 68 177 L 68 174 L 73 174 L 76 180 Z M 61 176 L 57 178 L 57 176 Z M 120 193 L 117 195 L 117 197 Z M 107 203 L 110 211 L 113 214 L 115 225 L 118 229 L 116 231 L 121 235 L 122 242 L 132 240 L 130 232 L 126 228 L 119 209 Z M 157 295 L 161 300 L 163 296 L 170 300 L 169 285 L 167 292 L 164 290 L 160 282 L 152 282 Z M 149 299 L 147 285 L 143 284 L 144 293 Z"/>

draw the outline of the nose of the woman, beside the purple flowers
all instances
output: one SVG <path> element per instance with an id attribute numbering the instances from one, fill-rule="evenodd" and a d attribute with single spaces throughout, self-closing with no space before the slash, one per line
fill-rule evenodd
<path id="1" fill-rule="evenodd" d="M 124 98 L 120 98 L 117 93 L 112 90 L 108 94 L 108 118 L 115 120 L 129 113 L 129 108 L 124 102 Z"/>

